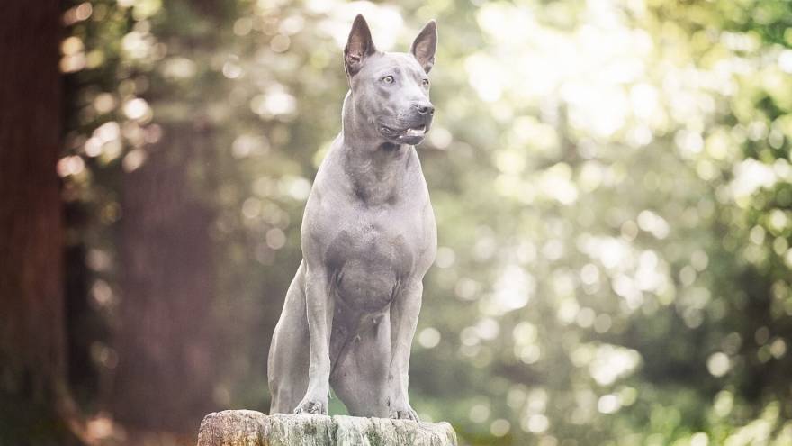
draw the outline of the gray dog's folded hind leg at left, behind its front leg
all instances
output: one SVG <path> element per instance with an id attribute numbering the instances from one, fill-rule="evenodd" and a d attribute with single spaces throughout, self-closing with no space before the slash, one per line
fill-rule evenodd
<path id="1" fill-rule="evenodd" d="M 310 361 L 305 314 L 305 274 L 301 263 L 286 292 L 284 311 L 275 326 L 267 360 L 270 414 L 292 414 L 308 388 Z"/>

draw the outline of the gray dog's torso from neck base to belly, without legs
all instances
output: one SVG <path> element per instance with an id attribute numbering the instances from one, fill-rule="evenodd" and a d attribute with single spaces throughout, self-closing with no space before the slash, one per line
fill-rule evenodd
<path id="1" fill-rule="evenodd" d="M 339 309 L 379 314 L 434 260 L 435 217 L 413 147 L 380 149 L 374 157 L 381 159 L 355 163 L 341 141 L 334 142 L 311 190 L 303 245 L 327 267 Z M 357 169 L 361 164 L 370 183 Z"/>

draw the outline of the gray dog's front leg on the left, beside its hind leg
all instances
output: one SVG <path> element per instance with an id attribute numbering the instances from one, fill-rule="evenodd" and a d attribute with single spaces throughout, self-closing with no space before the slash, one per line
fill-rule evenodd
<path id="1" fill-rule="evenodd" d="M 309 266 L 305 275 L 305 308 L 311 348 L 308 390 L 294 409 L 295 414 L 328 414 L 330 378 L 329 329 L 333 324 L 334 302 L 329 296 L 324 268 Z"/>

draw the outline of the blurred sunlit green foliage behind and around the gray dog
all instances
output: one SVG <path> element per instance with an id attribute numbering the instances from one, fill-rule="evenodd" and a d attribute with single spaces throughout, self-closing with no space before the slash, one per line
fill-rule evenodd
<path id="1" fill-rule="evenodd" d="M 266 341 L 362 12 L 384 50 L 440 30 L 419 414 L 470 444 L 792 442 L 788 2 L 96 0 L 67 17 L 85 5 L 58 171 L 95 216 L 94 295 L 112 319 L 119 267 L 96 259 L 118 177 L 162 132 L 211 129 L 213 164 L 190 168 L 218 213 L 219 405 L 266 410 Z"/>

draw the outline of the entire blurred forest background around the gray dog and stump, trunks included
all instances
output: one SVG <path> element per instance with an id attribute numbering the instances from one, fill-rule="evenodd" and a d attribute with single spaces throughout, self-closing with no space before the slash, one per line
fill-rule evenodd
<path id="1" fill-rule="evenodd" d="M 0 443 L 268 410 L 365 14 L 381 50 L 439 25 L 419 415 L 463 445 L 792 444 L 788 1 L 9 7 Z"/>

